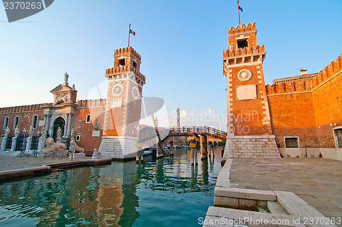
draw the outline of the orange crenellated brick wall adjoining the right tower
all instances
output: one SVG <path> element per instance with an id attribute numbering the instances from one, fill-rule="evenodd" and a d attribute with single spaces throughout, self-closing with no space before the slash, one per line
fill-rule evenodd
<path id="1" fill-rule="evenodd" d="M 333 130 L 342 126 L 341 94 L 341 55 L 317 74 L 267 85 L 277 144 L 284 148 L 285 136 L 298 136 L 302 148 L 335 148 Z"/>

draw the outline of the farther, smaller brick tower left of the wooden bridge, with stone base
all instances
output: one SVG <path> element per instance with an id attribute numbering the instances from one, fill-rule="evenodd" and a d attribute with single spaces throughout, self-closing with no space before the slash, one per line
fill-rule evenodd
<path id="1" fill-rule="evenodd" d="M 141 57 L 132 47 L 114 51 L 114 67 L 106 70 L 108 79 L 104 131 L 100 148 L 103 157 L 135 157 L 138 138 L 142 86 Z"/>

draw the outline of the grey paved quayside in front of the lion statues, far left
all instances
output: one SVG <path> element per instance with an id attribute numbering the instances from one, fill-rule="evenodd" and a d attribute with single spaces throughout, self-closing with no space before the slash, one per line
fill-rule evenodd
<path id="1" fill-rule="evenodd" d="M 1 155 L 0 156 L 0 172 L 8 171 L 8 170 L 19 170 L 19 169 L 27 169 L 33 167 L 40 167 L 45 164 L 50 163 L 60 163 L 71 161 L 71 159 L 61 159 L 51 157 L 43 158 L 35 158 L 35 157 L 8 157 Z"/>

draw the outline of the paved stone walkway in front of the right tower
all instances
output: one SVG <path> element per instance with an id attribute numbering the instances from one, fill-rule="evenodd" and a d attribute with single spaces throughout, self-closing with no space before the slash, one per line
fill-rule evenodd
<path id="1" fill-rule="evenodd" d="M 233 159 L 231 187 L 292 191 L 326 217 L 342 218 L 342 161 Z"/>

